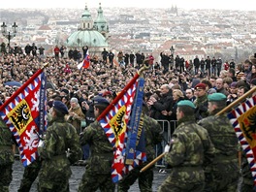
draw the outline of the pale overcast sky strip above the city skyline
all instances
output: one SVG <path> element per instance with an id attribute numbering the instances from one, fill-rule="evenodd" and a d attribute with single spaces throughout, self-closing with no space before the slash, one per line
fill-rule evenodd
<path id="1" fill-rule="evenodd" d="M 256 11 L 255 0 L 1 0 L 0 9 L 8 8 L 102 8 L 138 7 L 183 9 L 224 9 Z M 1 13 L 0 13 L 1 16 Z"/>

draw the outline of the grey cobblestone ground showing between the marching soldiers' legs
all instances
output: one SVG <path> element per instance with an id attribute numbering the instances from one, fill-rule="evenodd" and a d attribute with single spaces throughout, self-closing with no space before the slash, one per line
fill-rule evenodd
<path id="1" fill-rule="evenodd" d="M 80 184 L 80 178 L 82 174 L 84 173 L 84 167 L 83 166 L 72 166 L 72 176 L 70 178 L 70 191 L 76 192 L 78 191 L 78 187 Z M 20 180 L 23 175 L 24 168 L 19 160 L 16 160 L 14 166 L 13 166 L 13 181 L 11 183 L 10 192 L 16 192 L 18 189 L 18 186 L 20 184 Z M 153 181 L 153 192 L 157 191 L 160 184 L 165 180 L 165 178 L 168 176 L 168 173 L 166 174 L 159 174 L 158 168 L 155 168 L 154 171 L 154 181 Z M 33 183 L 32 188 L 30 192 L 36 192 L 36 184 L 37 180 Z M 139 192 L 139 186 L 136 182 L 133 186 L 131 186 L 130 190 L 131 192 Z"/>

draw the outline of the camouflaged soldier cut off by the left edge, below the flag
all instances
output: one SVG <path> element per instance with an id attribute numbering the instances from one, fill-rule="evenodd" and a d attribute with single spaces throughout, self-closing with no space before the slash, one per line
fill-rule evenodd
<path id="1" fill-rule="evenodd" d="M 12 182 L 13 163 L 15 156 L 12 150 L 14 144 L 12 133 L 7 125 L 0 120 L 0 192 L 9 191 Z"/>

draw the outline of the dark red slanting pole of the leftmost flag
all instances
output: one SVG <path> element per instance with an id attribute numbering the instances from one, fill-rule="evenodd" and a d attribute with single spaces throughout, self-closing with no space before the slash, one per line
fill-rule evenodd
<path id="1" fill-rule="evenodd" d="M 30 79 L 25 81 L 17 90 L 16 92 L 7 100 L 5 103 L 0 107 L 0 111 L 2 111 L 10 102 L 16 98 L 16 96 L 33 80 L 35 80 L 39 74 L 43 72 L 43 70 L 48 67 L 48 63 L 44 64 Z"/>

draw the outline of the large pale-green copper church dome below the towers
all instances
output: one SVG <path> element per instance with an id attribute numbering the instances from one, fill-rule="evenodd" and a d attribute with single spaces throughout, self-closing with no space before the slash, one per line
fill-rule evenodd
<path id="1" fill-rule="evenodd" d="M 67 47 L 82 48 L 88 47 L 108 47 L 105 37 L 98 31 L 86 30 L 74 32 L 67 40 Z"/>

